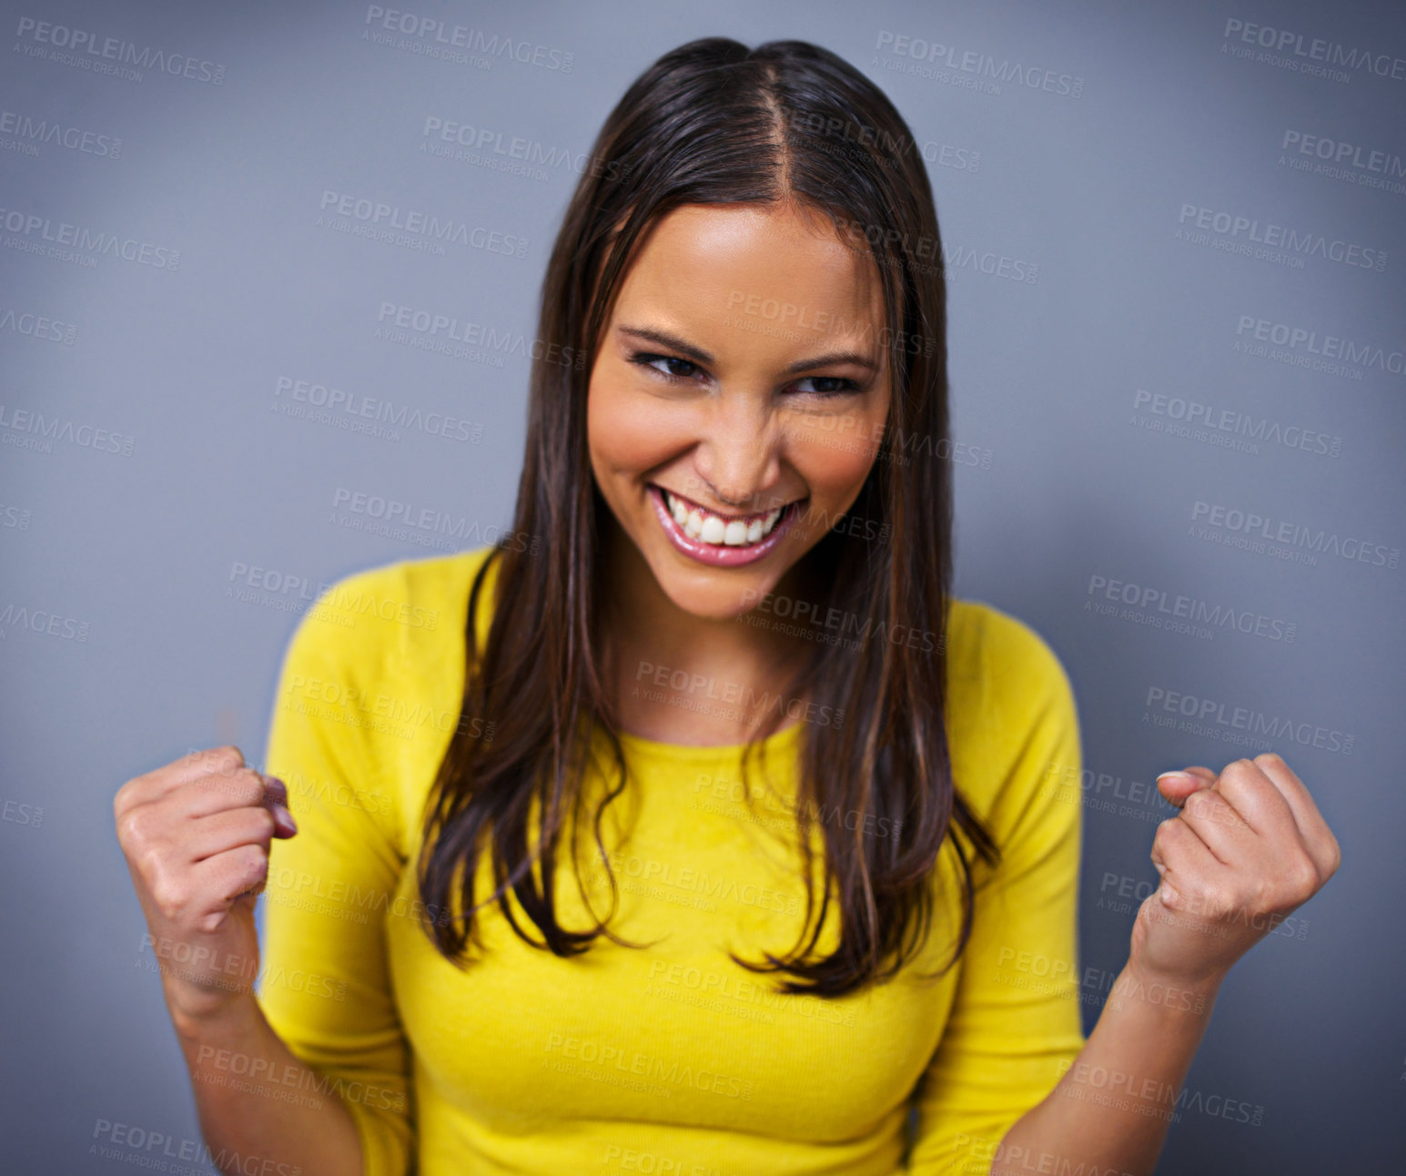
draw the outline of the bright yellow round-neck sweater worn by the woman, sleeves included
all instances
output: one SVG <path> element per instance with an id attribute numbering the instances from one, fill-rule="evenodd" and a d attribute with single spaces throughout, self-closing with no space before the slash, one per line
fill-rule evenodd
<path id="1" fill-rule="evenodd" d="M 612 927 L 648 945 L 600 937 L 561 959 L 492 905 L 477 916 L 486 954 L 460 971 L 418 926 L 413 864 L 458 720 L 463 620 L 486 551 L 344 577 L 288 646 L 266 769 L 287 782 L 299 831 L 271 848 L 259 1000 L 322 1082 L 280 1093 L 342 1097 L 367 1176 L 986 1173 L 1084 1044 L 1080 737 L 1049 646 L 990 605 L 953 601 L 953 771 L 1005 857 L 980 875 L 973 938 L 941 980 L 912 973 L 950 951 L 950 843 L 929 875 L 928 945 L 887 985 L 785 996 L 728 958 L 787 951 L 804 916 L 786 803 L 800 723 L 766 741 L 775 793 L 749 765 L 752 809 L 737 747 L 627 736 L 630 788 L 605 826 L 620 882 Z M 582 872 L 605 914 L 589 837 Z M 558 917 L 586 927 L 562 864 Z M 486 861 L 478 876 L 482 899 Z M 832 914 L 821 948 L 835 942 Z"/>

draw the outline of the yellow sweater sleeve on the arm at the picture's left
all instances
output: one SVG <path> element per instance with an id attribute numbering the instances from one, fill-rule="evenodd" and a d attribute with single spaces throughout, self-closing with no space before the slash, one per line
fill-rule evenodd
<path id="1" fill-rule="evenodd" d="M 411 1170 L 415 1124 L 384 919 L 401 872 L 394 775 L 377 737 L 377 699 L 394 696 L 394 626 L 339 608 L 404 584 L 385 568 L 332 585 L 284 656 L 266 771 L 288 786 L 298 831 L 270 847 L 259 1003 L 322 1080 L 291 1097 L 340 1097 L 361 1139 L 364 1176 Z"/>

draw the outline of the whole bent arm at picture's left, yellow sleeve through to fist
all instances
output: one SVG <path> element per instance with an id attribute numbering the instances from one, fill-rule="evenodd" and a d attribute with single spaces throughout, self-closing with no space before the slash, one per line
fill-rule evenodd
<path id="1" fill-rule="evenodd" d="M 385 942 L 404 867 L 399 771 L 371 710 L 402 696 L 387 677 L 401 633 L 353 612 L 359 601 L 406 599 L 398 577 L 394 565 L 344 577 L 298 623 L 267 775 L 225 747 L 129 781 L 114 802 L 205 1142 L 224 1172 L 413 1168 L 411 1055 Z"/>

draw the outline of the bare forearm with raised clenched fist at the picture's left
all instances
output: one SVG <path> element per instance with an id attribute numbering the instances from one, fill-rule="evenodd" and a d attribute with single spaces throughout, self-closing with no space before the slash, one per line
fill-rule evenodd
<path id="1" fill-rule="evenodd" d="M 288 1100 L 316 1080 L 253 993 L 256 893 L 271 841 L 297 834 L 287 799 L 221 747 L 128 781 L 112 807 L 214 1165 L 359 1176 L 356 1124 L 335 1094 Z"/>

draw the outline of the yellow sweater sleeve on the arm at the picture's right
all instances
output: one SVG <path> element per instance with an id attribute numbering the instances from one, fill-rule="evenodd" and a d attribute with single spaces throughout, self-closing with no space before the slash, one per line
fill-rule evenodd
<path id="1" fill-rule="evenodd" d="M 987 612 L 980 720 L 953 764 L 997 765 L 987 827 L 1000 865 L 977 872 L 972 938 L 945 1033 L 918 1087 L 914 1176 L 987 1173 L 1015 1121 L 1084 1047 L 1078 992 L 1081 769 L 1063 665 L 1032 630 Z M 1069 781 L 1076 781 L 1073 786 Z"/>

